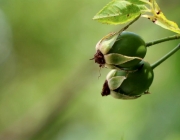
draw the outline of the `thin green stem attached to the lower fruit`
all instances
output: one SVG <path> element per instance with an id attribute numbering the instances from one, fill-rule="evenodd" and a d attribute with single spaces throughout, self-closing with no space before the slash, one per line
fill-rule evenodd
<path id="1" fill-rule="evenodd" d="M 172 49 L 169 53 L 167 53 L 165 56 L 163 56 L 161 59 L 159 59 L 157 62 L 151 65 L 151 68 L 154 69 L 158 65 L 160 65 L 162 62 L 164 62 L 166 59 L 168 59 L 171 55 L 173 55 L 175 52 L 177 52 L 180 48 L 180 44 L 178 44 L 174 49 Z"/>

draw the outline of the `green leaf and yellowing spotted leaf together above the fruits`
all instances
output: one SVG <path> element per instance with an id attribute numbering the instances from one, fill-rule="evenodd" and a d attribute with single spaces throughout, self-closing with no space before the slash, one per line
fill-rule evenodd
<path id="1" fill-rule="evenodd" d="M 113 0 L 93 19 L 101 23 L 117 25 L 130 22 L 140 14 L 156 25 L 180 34 L 178 25 L 166 18 L 156 0 Z"/>

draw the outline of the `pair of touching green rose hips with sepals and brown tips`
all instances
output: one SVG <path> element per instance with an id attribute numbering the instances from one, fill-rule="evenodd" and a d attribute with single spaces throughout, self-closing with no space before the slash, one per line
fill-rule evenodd
<path id="1" fill-rule="evenodd" d="M 109 34 L 97 43 L 95 63 L 112 69 L 104 82 L 102 96 L 136 99 L 149 93 L 154 73 L 143 60 L 146 51 L 144 40 L 128 31 Z"/>

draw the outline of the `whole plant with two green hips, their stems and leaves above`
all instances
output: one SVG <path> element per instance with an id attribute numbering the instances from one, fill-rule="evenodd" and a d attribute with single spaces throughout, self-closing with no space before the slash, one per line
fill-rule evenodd
<path id="1" fill-rule="evenodd" d="M 112 69 L 106 76 L 102 96 L 112 95 L 118 99 L 136 99 L 149 93 L 149 87 L 154 79 L 153 69 L 180 49 L 180 44 L 178 44 L 152 65 L 144 61 L 147 47 L 180 39 L 180 29 L 176 23 L 166 19 L 156 1 L 140 3 L 141 5 L 135 1 L 112 1 L 94 17 L 99 22 L 107 24 L 124 24 L 131 21 L 120 31 L 103 37 L 96 45 L 96 54 L 93 58 L 95 63 L 98 63 L 100 67 Z M 147 10 L 146 4 L 149 4 L 151 9 Z M 129 6 L 132 7 L 129 8 Z M 136 14 L 139 16 L 132 15 L 135 14 L 134 9 L 137 10 Z M 144 15 L 145 11 L 152 12 L 152 15 Z M 129 14 L 130 12 L 132 13 Z M 145 43 L 139 35 L 126 31 L 140 17 L 146 17 L 153 23 L 178 34 Z"/>

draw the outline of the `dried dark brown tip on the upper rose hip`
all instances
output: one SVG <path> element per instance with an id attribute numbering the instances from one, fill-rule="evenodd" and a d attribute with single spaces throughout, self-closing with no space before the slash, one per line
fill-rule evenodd
<path id="1" fill-rule="evenodd" d="M 94 55 L 94 58 L 91 60 L 95 60 L 95 63 L 98 63 L 100 67 L 102 67 L 105 64 L 104 55 L 101 53 L 100 50 L 97 50 L 96 54 Z"/>

